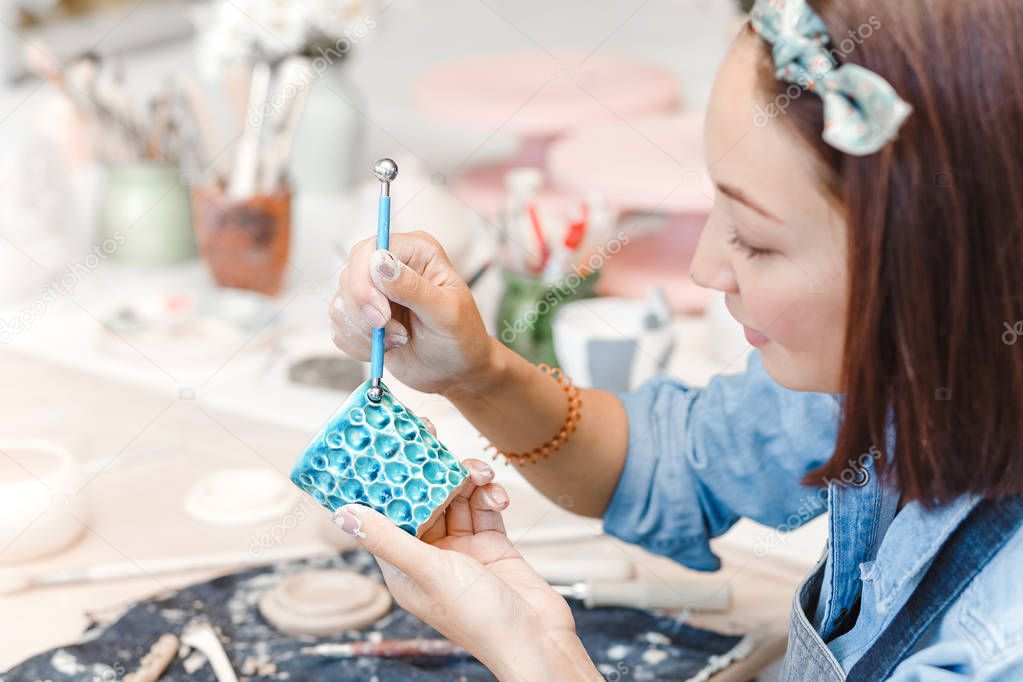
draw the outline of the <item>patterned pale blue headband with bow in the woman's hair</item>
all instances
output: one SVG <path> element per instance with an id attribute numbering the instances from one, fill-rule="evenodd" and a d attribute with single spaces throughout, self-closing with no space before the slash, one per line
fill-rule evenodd
<path id="1" fill-rule="evenodd" d="M 772 46 L 774 77 L 824 100 L 825 142 L 865 156 L 898 136 L 913 107 L 874 72 L 838 65 L 825 47 L 831 42 L 828 28 L 806 0 L 757 0 L 750 22 Z"/>

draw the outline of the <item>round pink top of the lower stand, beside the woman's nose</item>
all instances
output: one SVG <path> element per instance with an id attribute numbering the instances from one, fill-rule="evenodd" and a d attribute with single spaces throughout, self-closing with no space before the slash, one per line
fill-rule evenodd
<path id="1" fill-rule="evenodd" d="M 554 142 L 551 181 L 598 192 L 622 211 L 706 215 L 714 186 L 703 151 L 703 115 L 670 113 L 589 126 Z"/>

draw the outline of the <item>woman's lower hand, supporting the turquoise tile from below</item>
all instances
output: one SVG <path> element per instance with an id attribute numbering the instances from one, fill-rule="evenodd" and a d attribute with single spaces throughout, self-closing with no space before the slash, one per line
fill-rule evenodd
<path id="1" fill-rule="evenodd" d="M 501 680 L 603 679 L 572 611 L 504 533 L 507 494 L 493 469 L 463 462 L 471 484 L 417 540 L 369 507 L 335 521 L 361 540 L 402 608 L 460 644 Z"/>

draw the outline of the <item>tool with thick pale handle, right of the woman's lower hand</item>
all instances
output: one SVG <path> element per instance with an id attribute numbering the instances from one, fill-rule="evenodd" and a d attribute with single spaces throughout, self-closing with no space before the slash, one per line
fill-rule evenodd
<path id="1" fill-rule="evenodd" d="M 562 596 L 579 599 L 586 608 L 630 606 L 719 613 L 731 608 L 728 585 L 680 581 L 589 580 L 573 585 L 551 585 Z"/>

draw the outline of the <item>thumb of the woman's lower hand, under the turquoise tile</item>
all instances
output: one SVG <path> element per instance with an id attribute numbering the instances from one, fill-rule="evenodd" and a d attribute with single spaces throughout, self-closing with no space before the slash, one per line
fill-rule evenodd
<path id="1" fill-rule="evenodd" d="M 359 540 L 366 551 L 400 569 L 415 582 L 431 575 L 436 548 L 409 535 L 394 521 L 361 504 L 346 504 L 333 513 L 333 522 Z"/>

